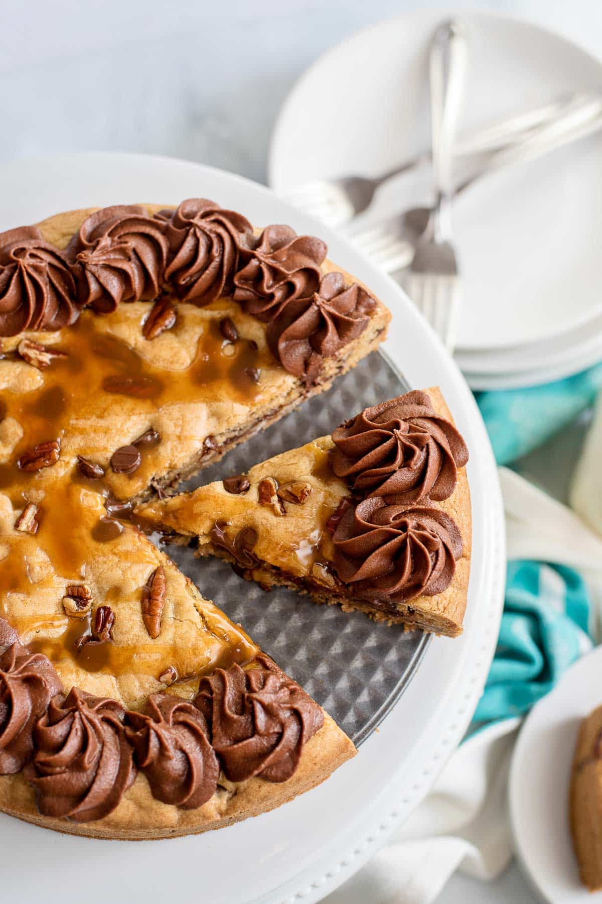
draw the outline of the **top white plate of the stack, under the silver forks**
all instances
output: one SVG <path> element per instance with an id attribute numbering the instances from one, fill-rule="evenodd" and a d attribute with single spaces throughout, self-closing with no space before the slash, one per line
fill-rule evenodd
<path id="1" fill-rule="evenodd" d="M 443 14 L 421 11 L 361 31 L 326 53 L 285 101 L 270 184 L 384 172 L 430 145 L 428 45 Z M 597 89 L 602 65 L 531 24 L 462 12 L 471 38 L 468 131 L 571 89 Z M 308 127 L 321 140 L 308 140 Z M 602 136 L 491 176 L 458 199 L 454 233 L 465 278 L 458 348 L 557 336 L 602 315 Z M 419 194 L 417 197 L 416 194 Z M 412 177 L 378 198 L 382 212 L 426 202 Z"/>

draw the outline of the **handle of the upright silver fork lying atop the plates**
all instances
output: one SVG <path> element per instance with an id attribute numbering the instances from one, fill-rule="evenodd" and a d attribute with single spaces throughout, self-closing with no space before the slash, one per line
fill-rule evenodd
<path id="1" fill-rule="evenodd" d="M 453 144 L 462 105 L 468 60 L 468 40 L 464 26 L 456 19 L 440 24 L 431 42 L 431 140 L 432 171 L 438 216 L 435 229 L 447 218 L 449 195 L 453 192 L 451 164 Z"/>

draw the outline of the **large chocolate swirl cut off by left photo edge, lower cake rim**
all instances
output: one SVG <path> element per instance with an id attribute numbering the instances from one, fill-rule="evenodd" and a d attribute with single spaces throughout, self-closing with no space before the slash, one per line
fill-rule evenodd
<path id="1" fill-rule="evenodd" d="M 33 755 L 33 729 L 62 684 L 50 660 L 30 653 L 0 618 L 0 775 L 14 775 Z"/>

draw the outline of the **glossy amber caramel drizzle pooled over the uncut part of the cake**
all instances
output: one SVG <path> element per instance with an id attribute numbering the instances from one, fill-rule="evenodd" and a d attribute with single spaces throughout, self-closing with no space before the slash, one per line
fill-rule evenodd
<path id="1" fill-rule="evenodd" d="M 0 465 L 0 493 L 8 496 L 15 509 L 34 500 L 40 526 L 35 537 L 23 535 L 21 543 L 14 541 L 4 559 L 0 551 L 0 616 L 11 621 L 32 649 L 47 655 L 54 664 L 74 660 L 88 672 L 116 676 L 134 672 L 155 677 L 166 665 L 174 665 L 181 677 L 186 674 L 179 651 L 162 644 L 161 637 L 135 648 L 111 642 L 81 645 L 81 637 L 89 631 L 85 619 L 84 624 L 80 619 L 67 619 L 60 610 L 43 616 L 27 613 L 16 617 L 9 597 L 23 594 L 22 606 L 28 606 L 37 583 L 32 580 L 32 557 L 45 554 L 56 575 L 76 583 L 85 579 L 87 563 L 98 557 L 114 553 L 125 569 L 128 559 L 132 564 L 144 560 L 146 541 L 135 535 L 131 525 L 108 517 L 102 499 L 115 495 L 123 499 L 144 491 L 161 470 L 161 442 L 141 449 L 141 466 L 126 478 L 124 492 L 125 477 L 113 474 L 106 453 L 99 462 L 95 438 L 78 432 L 79 420 L 85 424 L 87 416 L 93 419 L 100 413 L 102 417 L 103 410 L 119 406 L 125 414 L 132 413 L 138 419 L 146 414 L 152 424 L 153 415 L 174 402 L 227 398 L 249 404 L 261 395 L 262 384 L 255 381 L 255 372 L 261 372 L 266 364 L 273 366 L 270 353 L 258 350 L 255 343 L 243 337 L 235 343 L 224 337 L 219 326 L 223 303 L 214 302 L 206 310 L 215 316 L 204 322 L 190 367 L 177 374 L 153 366 L 129 345 L 107 334 L 112 315 L 102 317 L 99 325 L 100 318 L 84 312 L 76 324 L 61 331 L 59 343 L 51 346 L 64 356 L 53 358 L 42 372 L 34 371 L 32 365 L 22 365 L 31 367 L 34 377 L 39 374 L 39 388 L 3 392 L 0 419 L 14 419 L 23 428 L 23 437 L 9 460 Z M 17 353 L 14 358 L 20 360 Z M 60 459 L 55 465 L 38 471 L 25 471 L 18 466 L 24 453 L 49 440 L 60 443 Z M 78 455 L 101 464 L 105 476 L 83 476 Z M 82 504 L 84 497 L 86 504 Z M 95 502 L 90 504 L 91 500 Z M 151 555 L 148 559 L 156 567 Z M 142 594 L 142 588 L 139 592 Z M 60 599 L 60 589 L 56 594 Z M 110 595 L 111 589 L 107 598 Z M 95 600 L 95 604 L 102 602 Z M 208 626 L 215 634 L 215 642 L 208 644 L 200 673 L 218 665 L 245 663 L 255 654 L 255 645 L 245 633 L 232 626 L 217 609 L 215 612 L 215 625 Z"/>

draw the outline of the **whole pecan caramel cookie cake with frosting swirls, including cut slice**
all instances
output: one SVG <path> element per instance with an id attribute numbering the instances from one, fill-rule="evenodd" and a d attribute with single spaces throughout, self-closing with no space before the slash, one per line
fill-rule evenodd
<path id="1" fill-rule="evenodd" d="M 69 212 L 0 234 L 0 810 L 62 832 L 169 837 L 278 806 L 355 753 L 139 523 L 199 538 L 199 551 L 225 553 L 245 577 L 320 602 L 461 630 L 468 456 L 437 391 L 394 400 L 389 417 L 363 412 L 394 420 L 384 433 L 396 464 L 389 449 L 376 488 L 371 468 L 354 470 L 346 424 L 316 440 L 300 479 L 293 450 L 236 476 L 238 492 L 208 485 L 202 524 L 198 513 L 170 522 L 174 501 L 171 514 L 187 511 L 190 497 L 165 498 L 183 478 L 328 389 L 384 338 L 387 309 L 326 255 L 319 239 L 259 231 L 199 199 Z M 421 490 L 408 489 L 412 468 Z M 384 531 L 399 551 L 387 554 L 403 558 L 405 590 L 385 586 L 386 566 L 356 580 L 361 551 L 347 549 L 343 566 L 318 560 L 339 532 L 353 547 L 366 504 L 380 512 L 373 545 L 384 545 L 384 509 L 395 522 Z M 290 523 L 293 543 L 314 538 L 308 574 L 262 552 L 272 517 Z M 241 569 L 231 551 L 245 528 L 253 568 Z M 316 581 L 317 565 L 328 579 Z"/>

